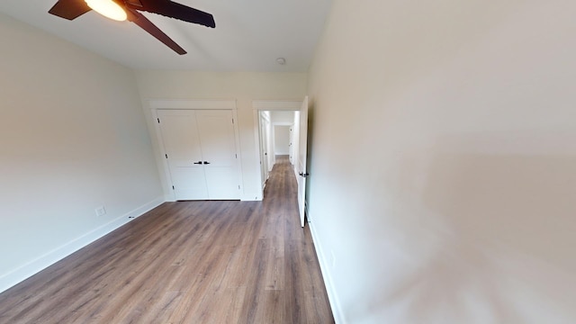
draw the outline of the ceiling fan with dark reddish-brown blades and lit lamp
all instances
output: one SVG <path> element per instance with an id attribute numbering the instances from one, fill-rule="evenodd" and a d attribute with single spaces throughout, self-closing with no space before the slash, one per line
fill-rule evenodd
<path id="1" fill-rule="evenodd" d="M 180 55 L 186 54 L 186 51 L 176 44 L 174 40 L 170 39 L 164 31 L 160 31 L 143 14 L 140 14 L 139 11 L 161 14 L 188 23 L 198 23 L 206 27 L 216 27 L 214 17 L 211 14 L 170 0 L 58 0 L 49 10 L 49 14 L 54 14 L 67 20 L 74 20 L 91 10 L 114 20 L 128 20 L 136 23 L 144 31 L 148 31 L 150 35 L 156 37 L 157 40 L 162 41 L 167 47 Z"/>

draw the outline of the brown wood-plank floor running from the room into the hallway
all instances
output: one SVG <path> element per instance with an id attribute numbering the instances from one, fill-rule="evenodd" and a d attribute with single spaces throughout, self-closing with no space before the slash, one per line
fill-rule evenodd
<path id="1" fill-rule="evenodd" d="M 334 323 L 279 162 L 263 202 L 166 202 L 0 294 L 0 323 Z"/>

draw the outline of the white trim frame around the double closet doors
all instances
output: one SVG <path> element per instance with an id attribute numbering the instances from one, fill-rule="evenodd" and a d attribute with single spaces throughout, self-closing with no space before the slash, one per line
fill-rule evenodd
<path id="1" fill-rule="evenodd" d="M 238 167 L 238 184 L 240 184 L 240 199 L 244 197 L 244 175 L 242 172 L 242 156 L 240 155 L 240 137 L 238 131 L 238 108 L 236 100 L 162 100 L 151 99 L 148 100 L 150 108 L 152 123 L 154 124 L 154 131 L 156 132 L 157 147 L 159 154 L 164 157 L 166 155 L 166 148 L 164 148 L 164 140 L 162 139 L 162 131 L 158 124 L 158 110 L 229 110 L 232 111 L 232 119 L 234 120 L 234 136 L 236 141 L 236 159 Z M 158 165 L 160 172 L 160 181 L 164 190 L 164 197 L 166 202 L 175 202 L 175 193 L 170 184 L 170 170 L 166 158 L 160 157 L 162 161 Z"/>

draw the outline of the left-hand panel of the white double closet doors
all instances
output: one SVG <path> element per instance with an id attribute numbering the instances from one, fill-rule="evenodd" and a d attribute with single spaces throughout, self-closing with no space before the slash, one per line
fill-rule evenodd
<path id="1" fill-rule="evenodd" d="M 158 110 L 176 200 L 209 199 L 195 112 Z"/>

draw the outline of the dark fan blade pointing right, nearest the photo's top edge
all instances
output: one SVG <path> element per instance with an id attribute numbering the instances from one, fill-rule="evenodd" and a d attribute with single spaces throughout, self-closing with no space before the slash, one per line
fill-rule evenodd
<path id="1" fill-rule="evenodd" d="M 198 9 L 191 8 L 184 4 L 178 4 L 170 0 L 124 0 L 124 3 L 131 9 L 146 11 L 153 14 L 161 14 L 188 23 L 198 23 L 206 27 L 216 27 L 214 17 L 211 14 L 204 13 Z M 139 3 L 141 5 L 134 3 Z"/>

